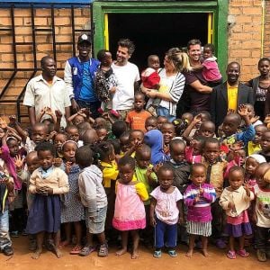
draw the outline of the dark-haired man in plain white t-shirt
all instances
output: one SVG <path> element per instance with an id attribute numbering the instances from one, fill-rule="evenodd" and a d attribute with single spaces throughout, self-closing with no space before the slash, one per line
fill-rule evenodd
<path id="1" fill-rule="evenodd" d="M 134 49 L 131 40 L 119 40 L 116 61 L 112 64 L 113 73 L 118 79 L 117 90 L 112 97 L 112 109 L 119 112 L 123 120 L 133 108 L 134 92 L 139 90 L 139 68 L 129 62 Z"/>

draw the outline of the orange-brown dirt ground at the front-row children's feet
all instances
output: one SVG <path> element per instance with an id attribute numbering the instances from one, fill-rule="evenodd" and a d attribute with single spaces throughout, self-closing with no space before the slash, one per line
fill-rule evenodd
<path id="1" fill-rule="evenodd" d="M 114 256 L 115 248 L 110 248 L 109 257 L 100 258 L 96 253 L 92 253 L 88 257 L 78 257 L 68 254 L 71 247 L 64 249 L 64 257 L 58 259 L 49 251 L 44 251 L 38 260 L 31 259 L 31 252 L 28 250 L 28 238 L 14 238 L 14 256 L 5 257 L 0 254 L 0 269 L 1 270 L 54 270 L 54 269 L 104 269 L 104 270 L 189 270 L 189 269 L 207 269 L 211 270 L 269 270 L 270 259 L 266 263 L 259 263 L 256 259 L 254 250 L 251 250 L 250 257 L 237 257 L 235 260 L 230 260 L 225 255 L 225 250 L 218 250 L 210 246 L 211 257 L 202 257 L 199 250 L 196 250 L 193 258 L 187 258 L 184 253 L 187 249 L 185 246 L 178 247 L 178 257 L 169 257 L 166 253 L 162 254 L 161 258 L 154 258 L 152 250 L 140 247 L 139 259 L 131 260 L 130 254 L 125 254 L 122 257 Z M 249 250 L 250 251 L 250 250 Z"/>

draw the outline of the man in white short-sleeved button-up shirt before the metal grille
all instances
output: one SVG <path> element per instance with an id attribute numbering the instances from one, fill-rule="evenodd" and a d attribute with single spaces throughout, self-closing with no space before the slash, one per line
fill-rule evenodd
<path id="1" fill-rule="evenodd" d="M 66 119 L 70 115 L 70 100 L 65 82 L 56 76 L 56 62 L 53 58 L 46 56 L 41 58 L 40 66 L 42 73 L 33 77 L 26 86 L 23 105 L 28 106 L 29 119 L 31 125 L 37 121 L 40 112 L 45 108 L 50 108 L 52 112 L 62 113 L 61 126 L 66 127 Z M 50 116 L 45 114 L 41 121 Z M 65 119 L 66 118 L 66 119 Z"/>

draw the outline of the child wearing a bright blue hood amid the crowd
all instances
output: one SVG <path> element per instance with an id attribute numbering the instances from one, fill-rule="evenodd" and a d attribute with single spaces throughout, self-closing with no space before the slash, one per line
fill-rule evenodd
<path id="1" fill-rule="evenodd" d="M 144 136 L 144 142 L 151 148 L 151 164 L 164 163 L 167 156 L 163 149 L 163 135 L 159 130 L 150 130 Z"/>

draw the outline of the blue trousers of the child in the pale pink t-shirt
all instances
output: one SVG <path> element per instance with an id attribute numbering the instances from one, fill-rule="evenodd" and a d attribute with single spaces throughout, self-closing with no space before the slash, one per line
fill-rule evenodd
<path id="1" fill-rule="evenodd" d="M 164 247 L 165 238 L 166 247 L 176 247 L 177 223 L 169 225 L 161 220 L 158 220 L 157 217 L 156 222 L 157 225 L 155 226 L 155 247 Z"/>

